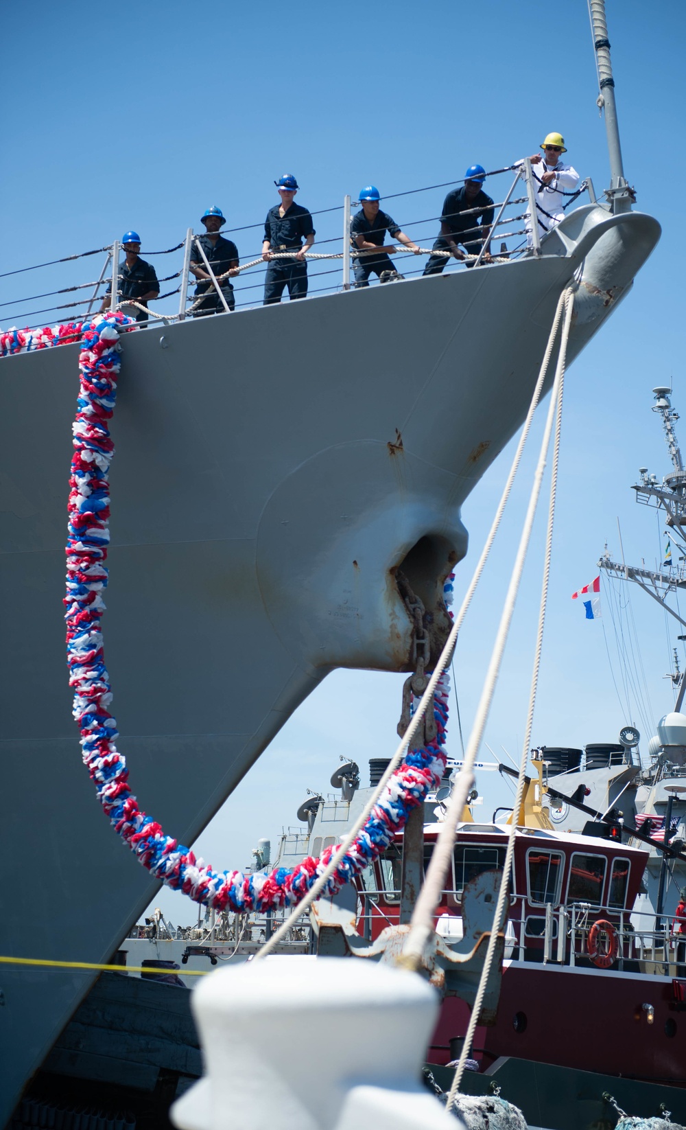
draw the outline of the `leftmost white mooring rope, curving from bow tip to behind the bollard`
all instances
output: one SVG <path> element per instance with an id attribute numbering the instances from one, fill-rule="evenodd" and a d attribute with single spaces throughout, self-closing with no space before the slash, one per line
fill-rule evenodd
<path id="1" fill-rule="evenodd" d="M 426 706 L 432 701 L 433 692 L 436 690 L 436 687 L 438 686 L 438 681 L 439 681 L 441 675 L 443 673 L 443 671 L 446 670 L 446 668 L 448 667 L 448 663 L 450 662 L 450 659 L 452 658 L 452 651 L 454 651 L 455 644 L 457 643 L 458 633 L 459 633 L 459 631 L 460 631 L 460 628 L 463 626 L 463 621 L 465 619 L 465 616 L 467 614 L 469 605 L 472 603 L 472 598 L 473 598 L 474 592 L 476 591 L 476 586 L 477 586 L 477 584 L 478 584 L 478 582 L 481 580 L 481 575 L 483 573 L 484 566 L 486 564 L 486 559 L 487 559 L 489 554 L 491 551 L 491 548 L 493 546 L 493 541 L 495 539 L 495 534 L 498 533 L 498 528 L 500 525 L 502 515 L 504 513 L 504 510 L 505 510 L 505 506 L 507 506 L 507 503 L 508 503 L 508 498 L 510 497 L 510 492 L 512 489 L 512 484 L 514 481 L 514 477 L 516 477 L 517 471 L 519 469 L 519 463 L 521 461 L 521 454 L 524 452 L 524 449 L 525 449 L 525 445 L 526 445 L 526 442 L 527 442 L 527 438 L 528 438 L 528 435 L 529 435 L 529 431 L 531 428 L 531 420 L 534 419 L 534 414 L 536 411 L 536 407 L 537 407 L 538 401 L 540 399 L 540 391 L 543 389 L 543 383 L 544 383 L 544 380 L 545 380 L 545 374 L 547 372 L 548 362 L 551 359 L 551 354 L 552 354 L 552 350 L 553 350 L 554 337 L 555 337 L 555 333 L 557 332 L 557 324 L 560 322 L 560 315 L 561 315 L 561 312 L 562 312 L 562 303 L 563 303 L 563 295 L 560 296 L 560 301 L 557 303 L 557 310 L 555 312 L 555 321 L 554 321 L 553 330 L 551 331 L 551 337 L 548 338 L 548 344 L 547 344 L 547 347 L 546 347 L 546 351 L 545 351 L 545 356 L 544 356 L 544 359 L 543 359 L 543 364 L 540 366 L 540 372 L 538 374 L 538 380 L 536 382 L 536 386 L 535 386 L 534 393 L 531 395 L 531 402 L 529 403 L 529 409 L 527 411 L 527 416 L 526 416 L 526 419 L 525 419 L 525 423 L 524 423 L 524 427 L 521 429 L 521 435 L 519 437 L 519 443 L 517 444 L 517 451 L 514 452 L 514 458 L 512 459 L 512 464 L 510 467 L 510 472 L 508 475 L 508 479 L 507 479 L 507 483 L 504 485 L 503 493 L 502 493 L 500 503 L 498 505 L 498 510 L 495 512 L 495 518 L 493 519 L 493 524 L 491 525 L 491 530 L 489 531 L 489 537 L 486 538 L 486 541 L 484 544 L 484 548 L 482 549 L 481 557 L 478 558 L 478 562 L 476 564 L 476 568 L 474 570 L 474 573 L 472 575 L 472 580 L 470 580 L 469 585 L 467 588 L 467 591 L 466 591 L 466 593 L 465 593 L 465 596 L 463 598 L 463 602 L 460 605 L 459 612 L 457 614 L 456 620 L 455 620 L 455 623 L 454 623 L 454 625 L 452 625 L 452 627 L 450 629 L 450 634 L 449 634 L 449 636 L 448 636 L 448 638 L 446 641 L 446 644 L 443 646 L 443 650 L 442 650 L 442 652 L 440 654 L 440 659 L 439 659 L 439 661 L 438 661 L 438 663 L 436 666 L 436 670 L 434 670 L 433 675 L 431 676 L 431 678 L 429 679 L 429 684 L 426 686 L 426 689 L 424 690 L 424 694 L 422 695 L 422 698 L 421 698 L 421 701 L 419 703 L 419 706 L 417 706 L 415 713 L 412 715 L 412 718 L 410 720 L 410 725 L 407 727 L 407 729 L 406 729 L 406 731 L 405 731 L 405 733 L 404 733 L 404 736 L 403 736 L 399 745 L 397 746 L 397 748 L 396 748 L 393 757 L 390 758 L 390 760 L 389 760 L 389 763 L 388 763 L 388 765 L 386 767 L 386 771 L 385 771 L 385 773 L 381 776 L 381 780 L 379 781 L 377 788 L 375 789 L 375 791 L 372 792 L 371 797 L 367 801 L 364 808 L 362 809 L 362 811 L 359 815 L 358 819 L 353 824 L 352 828 L 349 831 L 349 833 L 345 836 L 345 838 L 341 842 L 341 845 L 338 846 L 337 851 L 332 855 L 332 858 L 331 858 L 331 860 L 328 862 L 328 866 L 322 872 L 322 875 L 319 876 L 319 878 L 317 879 L 317 881 L 310 887 L 310 889 L 305 895 L 305 897 L 297 904 L 296 907 L 293 907 L 293 910 L 291 911 L 291 914 L 289 915 L 289 918 L 285 919 L 282 922 L 282 924 L 272 935 L 272 937 L 266 942 L 266 945 L 263 946 L 262 949 L 257 951 L 257 954 L 255 955 L 254 960 L 257 960 L 261 957 L 266 957 L 266 955 L 272 951 L 272 949 L 274 948 L 274 946 L 281 940 L 281 938 L 288 932 L 288 930 L 290 929 L 290 927 L 296 922 L 296 919 L 298 919 L 301 914 L 304 914 L 305 911 L 307 911 L 311 906 L 311 904 L 315 902 L 315 899 L 317 899 L 319 897 L 319 895 L 322 894 L 322 890 L 324 889 L 326 883 L 328 881 L 328 879 L 331 878 L 331 876 L 336 870 L 336 867 L 338 864 L 338 860 L 345 854 L 345 852 L 349 850 L 350 845 L 357 838 L 360 829 L 363 827 L 363 825 L 366 824 L 368 817 L 371 815 L 373 806 L 376 805 L 377 800 L 379 799 L 379 797 L 384 792 L 384 789 L 386 788 L 386 785 L 387 785 L 388 781 L 390 780 L 392 775 L 395 773 L 396 768 L 401 764 L 401 760 L 404 757 L 405 751 L 406 751 L 410 742 L 412 741 L 412 739 L 414 738 L 414 734 L 416 733 L 416 730 L 419 728 L 420 722 L 424 718 L 424 713 L 426 711 Z M 466 792 L 465 792 L 465 798 L 466 798 Z M 464 803 L 463 803 L 463 807 L 464 807 Z M 461 808 L 460 808 L 460 814 L 461 814 Z M 436 854 L 436 852 L 434 852 L 434 854 Z M 421 894 L 420 894 L 420 897 L 421 897 Z M 433 910 L 433 907 L 432 907 L 432 910 Z M 431 920 L 430 932 L 431 932 L 432 929 L 433 929 L 433 921 Z M 424 946 L 422 945 L 422 947 L 420 949 L 420 956 L 421 956 L 421 954 L 423 951 L 423 948 L 424 948 Z"/>

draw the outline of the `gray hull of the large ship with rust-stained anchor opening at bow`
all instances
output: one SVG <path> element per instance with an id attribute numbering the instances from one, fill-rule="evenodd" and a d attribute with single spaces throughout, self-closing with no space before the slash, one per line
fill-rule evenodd
<path id="1" fill-rule="evenodd" d="M 582 208 L 539 260 L 123 339 L 105 650 L 131 783 L 165 831 L 192 843 L 333 668 L 406 669 L 401 564 L 440 634 L 460 506 L 525 416 L 561 290 L 586 263 L 573 357 L 658 236 Z M 0 953 L 103 962 L 157 885 L 99 810 L 70 713 L 77 358 L 0 365 Z M 2 967 L 0 1118 L 90 983 Z"/>

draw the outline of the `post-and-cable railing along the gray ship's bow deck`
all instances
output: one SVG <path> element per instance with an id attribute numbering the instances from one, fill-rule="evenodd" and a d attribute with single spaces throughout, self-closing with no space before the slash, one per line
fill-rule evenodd
<path id="1" fill-rule="evenodd" d="M 527 172 L 529 177 L 527 181 L 527 177 L 522 175 L 522 166 L 508 165 L 487 174 L 486 189 L 495 199 L 494 224 L 490 237 L 491 254 L 495 257 L 494 266 L 531 253 L 527 246 L 525 229 L 525 217 L 527 209 L 531 207 L 531 200 L 536 207 L 533 195 L 534 182 L 529 173 L 530 168 Z M 461 183 L 464 182 L 445 182 L 392 193 L 382 198 L 381 208 L 393 215 L 401 229 L 416 245 L 429 252 L 439 235 L 443 197 L 450 189 L 459 186 Z M 496 191 L 500 185 L 502 185 L 501 191 Z M 584 191 L 591 201 L 596 200 L 592 182 L 587 179 L 581 183 L 579 190 L 570 195 L 568 205 L 574 206 L 580 193 Z M 301 195 L 305 202 L 306 198 L 302 193 Z M 332 258 L 311 258 L 309 260 L 309 289 L 306 301 L 322 295 L 337 294 L 354 287 L 351 270 L 353 247 L 349 231 L 351 208 L 357 207 L 358 203 L 358 201 L 352 202 L 348 195 L 338 206 L 313 210 L 311 215 L 317 234 L 311 254 L 313 257 Z M 474 209 L 474 212 L 477 214 L 478 209 Z M 475 224 L 476 220 L 477 215 L 475 215 Z M 160 294 L 149 307 L 148 323 L 139 323 L 134 329 L 147 329 L 158 322 L 160 325 L 170 324 L 195 315 L 196 297 L 192 290 L 196 280 L 188 275 L 188 262 L 197 234 L 188 228 L 183 237 L 181 233 L 176 234 L 169 241 L 167 249 L 148 250 L 143 247 L 141 250 L 141 259 L 152 259 L 156 266 Z M 267 263 L 261 258 L 264 221 L 239 227 L 226 227 L 220 234 L 229 236 L 238 244 L 240 263 L 243 264 L 240 275 L 230 279 L 234 285 L 236 313 L 262 305 L 264 275 L 267 269 Z M 475 227 L 470 235 L 461 233 L 459 238 L 478 241 L 478 228 Z M 396 270 L 404 279 L 421 276 L 426 255 L 390 250 L 396 246 L 401 245 L 397 241 L 390 240 L 385 249 L 394 257 Z M 542 247 L 545 251 L 545 240 Z M 113 242 L 102 247 L 65 255 L 45 263 L 17 267 L 14 270 L 0 272 L 0 333 L 8 330 L 35 331 L 55 322 L 61 324 L 81 323 L 91 318 L 99 311 L 108 286 L 112 289 L 113 279 L 118 278 L 121 251 L 121 244 Z M 94 270 L 88 264 L 98 263 L 100 255 L 105 255 L 105 259 L 99 260 L 99 269 Z M 468 270 L 475 263 L 478 264 L 480 261 L 481 255 L 477 259 L 470 257 L 464 262 L 450 258 L 447 261 L 446 270 Z M 245 264 L 250 263 L 253 266 L 245 270 Z M 116 271 L 114 271 L 115 264 L 117 264 Z M 32 280 L 33 286 L 20 285 L 20 281 L 26 280 L 27 282 L 28 279 Z M 378 285 L 375 276 L 371 277 L 370 285 Z M 17 288 L 21 292 L 20 297 L 15 296 Z M 116 288 L 114 289 L 116 293 Z M 221 306 L 220 287 L 214 286 L 214 289 L 218 304 Z M 121 292 L 121 279 L 118 292 Z M 209 293 L 206 292 L 206 294 Z M 117 294 L 117 297 L 121 299 L 121 294 Z M 50 298 L 54 298 L 55 302 L 51 304 Z M 125 299 L 118 302 L 120 308 L 130 305 L 131 303 L 126 303 Z M 76 338 L 71 340 L 76 340 Z"/>

